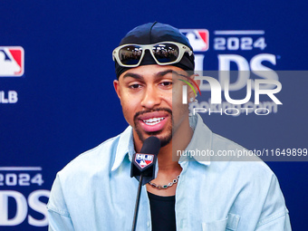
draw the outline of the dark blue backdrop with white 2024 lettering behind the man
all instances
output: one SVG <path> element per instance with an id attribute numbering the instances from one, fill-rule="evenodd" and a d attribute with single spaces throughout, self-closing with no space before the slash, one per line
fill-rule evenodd
<path id="1" fill-rule="evenodd" d="M 240 55 L 250 68 L 255 55 L 269 54 L 274 63 L 263 64 L 272 70 L 307 70 L 307 8 L 303 0 L 2 1 L 0 75 L 5 61 L 15 61 L 24 74 L 0 77 L 0 229 L 46 230 L 45 204 L 56 172 L 126 128 L 112 86 L 111 52 L 130 29 L 153 21 L 207 29 L 208 50 L 196 52 L 204 70 L 218 70 L 222 54 Z M 260 34 L 221 34 L 235 30 Z M 260 37 L 264 41 L 255 43 Z M 277 113 L 210 116 L 206 123 L 247 149 L 307 149 L 306 78 L 281 80 L 284 105 Z M 268 165 L 293 229 L 305 230 L 308 163 Z"/>

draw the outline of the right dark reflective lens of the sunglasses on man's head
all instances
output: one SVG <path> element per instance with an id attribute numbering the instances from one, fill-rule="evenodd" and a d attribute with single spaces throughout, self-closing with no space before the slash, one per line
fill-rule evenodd
<path id="1" fill-rule="evenodd" d="M 159 63 L 171 63 L 178 59 L 178 46 L 172 43 L 159 43 L 153 46 L 153 54 Z"/>

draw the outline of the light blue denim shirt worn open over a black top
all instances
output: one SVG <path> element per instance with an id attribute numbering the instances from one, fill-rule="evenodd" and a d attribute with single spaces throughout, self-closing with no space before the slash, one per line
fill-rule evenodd
<path id="1" fill-rule="evenodd" d="M 187 150 L 243 149 L 213 133 L 199 115 Z M 131 230 L 138 181 L 130 178 L 132 129 L 73 159 L 56 176 L 49 230 Z M 254 159 L 255 160 L 255 159 Z M 277 178 L 262 161 L 182 156 L 176 191 L 177 230 L 291 230 Z M 163 224 L 161 224 L 163 226 Z M 147 188 L 141 188 L 138 231 L 151 230 Z"/>

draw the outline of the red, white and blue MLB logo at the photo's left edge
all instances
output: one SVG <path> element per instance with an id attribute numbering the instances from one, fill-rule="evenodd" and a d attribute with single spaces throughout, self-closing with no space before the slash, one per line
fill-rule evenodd
<path id="1" fill-rule="evenodd" d="M 0 46 L 0 77 L 18 77 L 24 74 L 24 48 Z"/>

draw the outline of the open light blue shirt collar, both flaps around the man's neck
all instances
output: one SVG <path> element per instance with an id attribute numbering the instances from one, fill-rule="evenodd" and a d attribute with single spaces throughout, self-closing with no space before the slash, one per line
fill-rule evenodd
<path id="1" fill-rule="evenodd" d="M 212 131 L 207 128 L 207 125 L 203 123 L 203 120 L 200 115 L 196 114 L 189 117 L 190 127 L 194 130 L 192 139 L 190 140 L 187 151 L 189 150 L 200 150 L 200 151 L 209 151 L 211 150 L 212 143 Z M 132 136 L 132 128 L 129 126 L 120 134 L 120 139 L 118 143 L 118 148 L 116 152 L 116 157 L 112 165 L 111 171 L 116 170 L 120 167 L 123 159 L 127 154 L 129 154 L 129 159 L 131 161 L 133 154 L 135 154 L 134 142 Z M 183 161 L 189 161 L 191 159 L 197 160 L 200 164 L 209 165 L 210 160 L 208 156 L 194 155 L 190 153 L 189 157 L 181 156 L 178 163 Z"/>

